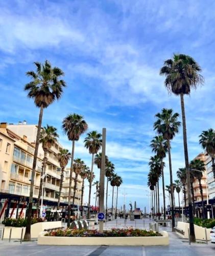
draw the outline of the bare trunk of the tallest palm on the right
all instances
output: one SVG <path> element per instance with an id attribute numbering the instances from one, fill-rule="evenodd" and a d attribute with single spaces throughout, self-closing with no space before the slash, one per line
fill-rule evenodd
<path id="1" fill-rule="evenodd" d="M 187 150 L 187 138 L 186 138 L 186 119 L 185 119 L 185 108 L 184 108 L 184 95 L 180 94 L 181 98 L 181 114 L 182 114 L 182 124 L 183 124 L 183 140 L 184 140 L 184 159 L 186 166 L 186 180 L 187 180 L 187 196 L 188 196 L 188 208 L 189 208 L 189 231 L 190 231 L 190 241 L 196 242 L 195 230 L 194 230 L 194 217 L 192 210 L 192 201 L 190 195 L 190 177 L 189 177 L 189 159 Z"/>

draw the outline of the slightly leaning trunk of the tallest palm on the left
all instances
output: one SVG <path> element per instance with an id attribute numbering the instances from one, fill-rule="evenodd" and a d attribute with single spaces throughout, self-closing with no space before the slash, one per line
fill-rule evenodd
<path id="1" fill-rule="evenodd" d="M 36 169 L 36 165 L 37 165 L 37 154 L 38 154 L 39 138 L 40 138 L 41 124 L 42 124 L 42 114 L 43 114 L 43 105 L 41 105 L 41 107 L 40 107 L 39 121 L 38 121 L 38 126 L 37 126 L 37 137 L 36 137 L 34 160 L 33 160 L 33 167 L 32 167 L 27 224 L 26 224 L 26 232 L 25 232 L 25 236 L 24 236 L 24 240 L 26 240 L 26 241 L 31 240 L 31 216 L 32 216 L 33 193 L 34 193 L 34 177 L 35 177 L 35 169 Z"/>

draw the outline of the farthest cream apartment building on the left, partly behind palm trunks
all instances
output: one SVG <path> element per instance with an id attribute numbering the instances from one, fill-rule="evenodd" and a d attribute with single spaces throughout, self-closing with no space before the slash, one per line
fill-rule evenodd
<path id="1" fill-rule="evenodd" d="M 68 202 L 69 176 L 70 176 L 70 168 L 66 168 L 64 173 L 64 182 L 63 182 L 64 194 L 61 197 L 63 202 Z M 82 182 L 83 182 L 83 179 L 81 178 L 80 175 L 78 175 L 76 197 L 74 202 L 74 204 L 76 205 L 81 205 Z M 71 202 L 72 202 L 73 193 L 74 193 L 74 185 L 75 185 L 75 173 L 73 172 L 73 180 L 71 182 Z"/>

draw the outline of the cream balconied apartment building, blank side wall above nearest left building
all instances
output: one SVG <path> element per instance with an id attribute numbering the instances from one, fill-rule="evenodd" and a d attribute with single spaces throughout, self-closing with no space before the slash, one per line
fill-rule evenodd
<path id="1" fill-rule="evenodd" d="M 26 121 L 18 122 L 18 124 L 9 124 L 8 129 L 13 131 L 19 136 L 26 136 L 32 145 L 35 145 L 37 135 L 37 125 L 27 124 Z M 62 146 L 56 142 L 49 150 L 47 154 L 46 164 L 46 176 L 44 178 L 44 196 L 43 200 L 46 200 L 46 204 L 50 202 L 58 201 L 58 192 L 60 189 L 60 164 L 57 158 L 58 153 L 62 149 Z M 38 149 L 39 158 L 43 159 L 44 152 L 42 145 L 39 144 Z M 64 191 L 62 190 L 62 194 Z M 45 201 L 44 201 L 45 202 Z"/>

